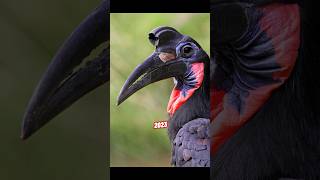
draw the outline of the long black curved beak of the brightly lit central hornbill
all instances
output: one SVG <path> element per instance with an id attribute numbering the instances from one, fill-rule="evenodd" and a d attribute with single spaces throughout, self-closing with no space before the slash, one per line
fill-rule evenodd
<path id="1" fill-rule="evenodd" d="M 187 64 L 184 61 L 172 60 L 164 63 L 158 53 L 153 53 L 130 74 L 120 91 L 118 105 L 143 87 L 170 77 L 181 77 L 186 71 Z"/>

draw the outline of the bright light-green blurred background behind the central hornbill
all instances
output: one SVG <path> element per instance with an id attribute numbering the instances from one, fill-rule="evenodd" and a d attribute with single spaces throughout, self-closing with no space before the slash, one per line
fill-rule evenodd
<path id="1" fill-rule="evenodd" d="M 120 106 L 118 93 L 135 66 L 154 47 L 148 33 L 158 26 L 172 26 L 193 37 L 209 53 L 209 14 L 111 14 L 110 151 L 111 166 L 170 166 L 167 129 L 153 129 L 153 122 L 167 120 L 166 107 L 172 79 L 143 88 Z"/>

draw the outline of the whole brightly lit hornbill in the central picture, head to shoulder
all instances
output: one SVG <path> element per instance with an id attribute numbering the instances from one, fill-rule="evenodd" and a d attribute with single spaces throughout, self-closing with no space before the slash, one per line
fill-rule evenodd
<path id="1" fill-rule="evenodd" d="M 174 78 L 167 106 L 168 134 L 175 166 L 210 165 L 209 56 L 191 37 L 172 27 L 149 33 L 155 51 L 130 74 L 118 97 L 118 105 L 141 88 Z"/>

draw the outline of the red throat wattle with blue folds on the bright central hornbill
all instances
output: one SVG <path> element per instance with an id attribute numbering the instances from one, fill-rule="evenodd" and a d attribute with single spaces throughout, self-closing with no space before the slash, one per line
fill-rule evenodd
<path id="1" fill-rule="evenodd" d="M 193 63 L 191 72 L 188 73 L 187 79 L 192 79 L 190 84 L 183 84 L 178 87 L 177 84 L 173 88 L 170 100 L 167 106 L 167 112 L 170 116 L 173 114 L 193 95 L 193 93 L 201 86 L 204 78 L 204 63 Z"/>

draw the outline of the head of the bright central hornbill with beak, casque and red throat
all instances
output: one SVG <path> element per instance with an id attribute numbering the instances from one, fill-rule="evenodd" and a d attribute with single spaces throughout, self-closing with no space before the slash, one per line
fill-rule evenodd
<path id="1" fill-rule="evenodd" d="M 176 86 L 167 109 L 173 115 L 202 85 L 209 57 L 195 40 L 171 27 L 154 29 L 149 40 L 156 49 L 126 80 L 118 105 L 141 88 L 174 77 Z"/>

